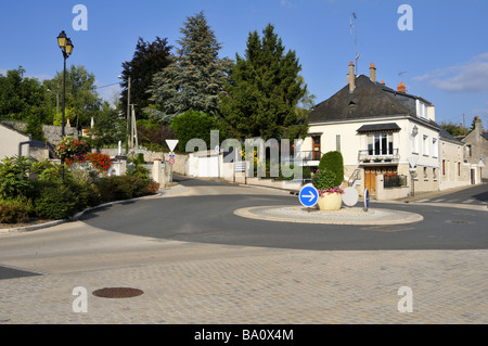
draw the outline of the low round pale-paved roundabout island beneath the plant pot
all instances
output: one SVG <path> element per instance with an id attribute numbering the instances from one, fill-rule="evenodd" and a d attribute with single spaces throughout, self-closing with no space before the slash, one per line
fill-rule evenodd
<path id="1" fill-rule="evenodd" d="M 323 223 L 323 225 L 403 225 L 420 222 L 420 214 L 394 209 L 368 209 L 343 207 L 341 210 L 324 212 L 303 206 L 258 206 L 234 210 L 244 218 L 277 222 Z"/>

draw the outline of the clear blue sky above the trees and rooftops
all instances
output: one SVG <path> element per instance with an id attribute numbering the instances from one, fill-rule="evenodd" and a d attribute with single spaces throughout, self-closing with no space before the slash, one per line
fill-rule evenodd
<path id="1" fill-rule="evenodd" d="M 139 37 L 153 41 L 181 37 L 188 16 L 204 11 L 222 43 L 220 55 L 244 54 L 249 31 L 275 27 L 287 49 L 299 57 L 301 75 L 321 102 L 346 85 L 355 60 L 351 13 L 357 15 L 359 74 L 436 105 L 437 121 L 466 125 L 479 115 L 488 129 L 488 26 L 486 0 L 1 0 L 0 73 L 22 65 L 26 75 L 52 78 L 63 67 L 56 36 L 65 30 L 75 46 L 67 63 L 84 65 L 99 87 L 118 81 Z M 87 30 L 76 30 L 76 4 L 88 10 Z M 401 4 L 412 12 L 412 30 L 400 30 Z M 99 89 L 113 98 L 117 86 Z"/>

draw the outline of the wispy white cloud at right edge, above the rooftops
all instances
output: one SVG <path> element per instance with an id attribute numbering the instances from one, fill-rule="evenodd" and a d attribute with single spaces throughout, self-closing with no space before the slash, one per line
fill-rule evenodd
<path id="1" fill-rule="evenodd" d="M 488 53 L 459 65 L 435 69 L 413 80 L 426 81 L 446 91 L 488 92 Z"/>

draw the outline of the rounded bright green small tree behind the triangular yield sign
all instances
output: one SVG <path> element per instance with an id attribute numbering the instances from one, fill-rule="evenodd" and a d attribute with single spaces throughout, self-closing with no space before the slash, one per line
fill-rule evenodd
<path id="1" fill-rule="evenodd" d="M 217 121 L 208 114 L 197 111 L 187 111 L 172 118 L 170 127 L 178 138 L 178 148 L 185 151 L 187 142 L 191 139 L 202 139 L 210 145 L 210 130 L 218 130 Z"/>

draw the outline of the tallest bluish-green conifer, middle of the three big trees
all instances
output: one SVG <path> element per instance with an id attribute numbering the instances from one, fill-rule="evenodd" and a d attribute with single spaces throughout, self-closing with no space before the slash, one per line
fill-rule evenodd
<path id="1" fill-rule="evenodd" d="M 188 17 L 181 28 L 177 56 L 154 76 L 152 99 L 158 107 L 147 110 L 163 121 L 187 111 L 210 116 L 218 112 L 219 94 L 230 68 L 228 59 L 219 59 L 221 44 L 203 12 Z"/>

